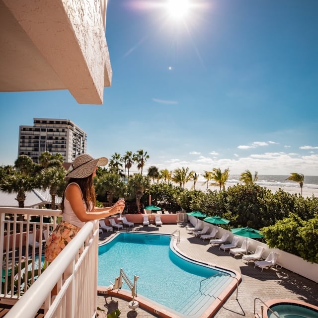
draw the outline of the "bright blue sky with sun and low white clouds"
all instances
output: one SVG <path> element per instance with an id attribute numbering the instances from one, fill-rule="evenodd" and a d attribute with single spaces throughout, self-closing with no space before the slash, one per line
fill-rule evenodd
<path id="1" fill-rule="evenodd" d="M 108 0 L 103 105 L 0 93 L 0 165 L 17 158 L 20 125 L 61 118 L 93 157 L 143 149 L 144 172 L 318 175 L 318 1 L 175 1 Z"/>

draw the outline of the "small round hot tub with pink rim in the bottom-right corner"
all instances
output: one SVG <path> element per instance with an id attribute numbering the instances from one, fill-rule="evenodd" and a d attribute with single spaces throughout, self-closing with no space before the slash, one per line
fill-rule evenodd
<path id="1" fill-rule="evenodd" d="M 291 299 L 271 300 L 265 303 L 279 318 L 318 318 L 318 307 Z M 270 310 L 268 318 L 277 318 Z"/>

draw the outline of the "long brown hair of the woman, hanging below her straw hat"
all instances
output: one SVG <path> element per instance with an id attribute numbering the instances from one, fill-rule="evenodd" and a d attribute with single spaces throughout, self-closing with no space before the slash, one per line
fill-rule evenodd
<path id="1" fill-rule="evenodd" d="M 83 194 L 83 200 L 86 204 L 86 208 L 89 209 L 90 205 L 93 204 L 93 207 L 96 205 L 96 196 L 95 196 L 95 188 L 93 184 L 93 177 L 92 174 L 89 175 L 86 178 L 71 178 L 67 184 L 67 186 L 70 183 L 77 183 L 79 185 L 79 188 Z M 65 190 L 67 186 L 64 188 L 63 191 L 63 197 L 62 197 L 62 202 L 61 202 L 61 210 L 62 214 L 64 212 L 64 199 L 65 199 Z"/>

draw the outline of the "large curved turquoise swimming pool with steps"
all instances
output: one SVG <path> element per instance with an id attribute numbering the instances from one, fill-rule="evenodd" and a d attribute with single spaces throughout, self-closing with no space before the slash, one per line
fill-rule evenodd
<path id="1" fill-rule="evenodd" d="M 139 276 L 138 296 L 180 317 L 200 317 L 236 275 L 186 259 L 172 245 L 170 235 L 118 233 L 98 248 L 98 285 L 110 285 L 123 268 L 132 281 Z"/>

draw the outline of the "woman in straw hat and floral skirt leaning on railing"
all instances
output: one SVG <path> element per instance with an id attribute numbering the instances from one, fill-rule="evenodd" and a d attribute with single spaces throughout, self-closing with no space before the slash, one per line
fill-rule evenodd
<path id="1" fill-rule="evenodd" d="M 105 157 L 94 159 L 88 154 L 82 154 L 72 163 L 73 170 L 66 175 L 69 182 L 61 202 L 62 221 L 45 244 L 46 261 L 52 262 L 85 222 L 103 219 L 124 210 L 124 200 L 116 202 L 112 207 L 95 207 L 93 177 L 96 176 L 97 166 L 106 165 L 107 162 Z"/>

